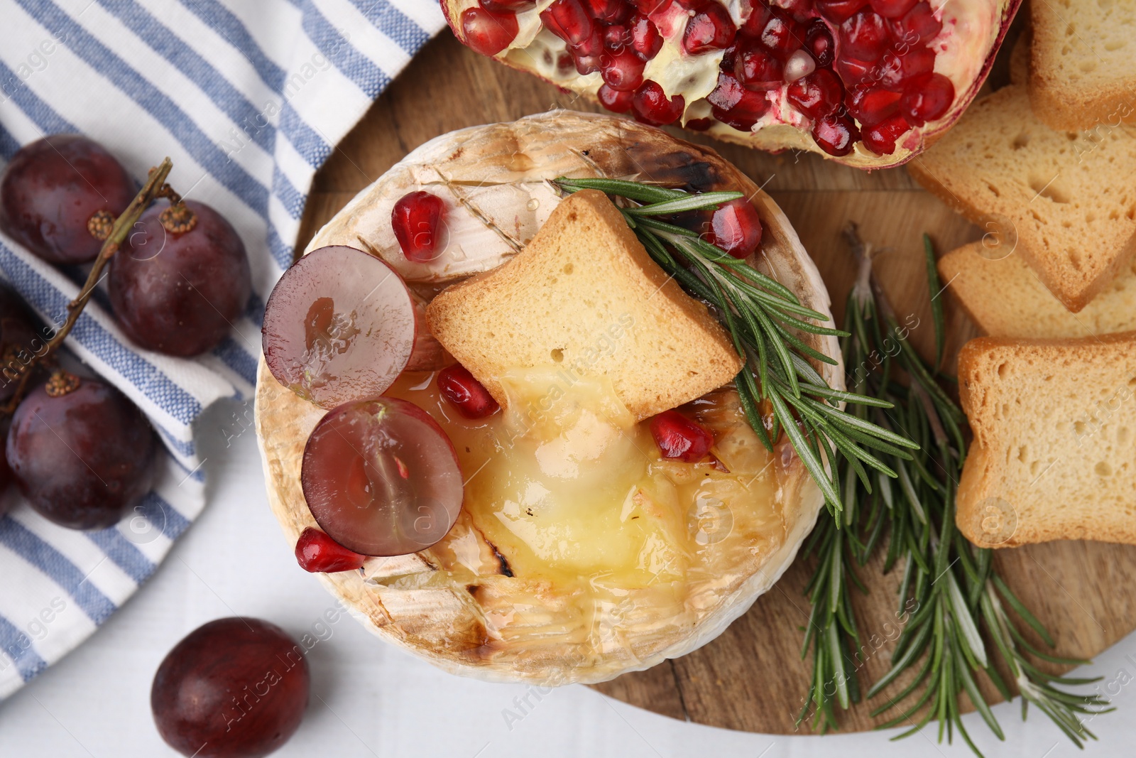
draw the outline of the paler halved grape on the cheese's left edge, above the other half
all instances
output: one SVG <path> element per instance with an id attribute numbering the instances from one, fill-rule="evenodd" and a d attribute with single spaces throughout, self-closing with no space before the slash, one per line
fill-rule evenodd
<path id="1" fill-rule="evenodd" d="M 334 408 L 391 386 L 410 360 L 418 319 L 394 269 L 362 250 L 332 245 L 284 272 L 268 297 L 262 334 L 276 381 Z"/>

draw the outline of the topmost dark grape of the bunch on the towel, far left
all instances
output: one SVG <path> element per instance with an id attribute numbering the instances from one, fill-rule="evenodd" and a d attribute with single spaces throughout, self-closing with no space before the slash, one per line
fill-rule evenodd
<path id="1" fill-rule="evenodd" d="M 134 199 L 134 181 L 98 142 L 56 134 L 20 148 L 0 177 L 0 228 L 52 264 L 83 264 L 102 248 L 89 230 Z"/>

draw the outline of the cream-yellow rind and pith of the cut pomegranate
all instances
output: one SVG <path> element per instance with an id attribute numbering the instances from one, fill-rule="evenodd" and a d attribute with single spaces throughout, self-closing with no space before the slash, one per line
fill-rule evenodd
<path id="1" fill-rule="evenodd" d="M 726 0 L 711 1 L 721 2 L 727 6 L 734 5 L 726 2 Z M 462 43 L 466 43 L 466 40 L 461 33 L 460 25 L 454 25 L 454 19 L 460 16 L 463 9 L 476 5 L 477 0 L 441 0 L 443 15 L 453 30 L 454 36 Z M 536 11 L 549 5 L 551 5 L 551 0 L 538 0 L 534 10 L 518 14 L 521 28 L 513 45 L 502 50 L 496 56 L 493 56 L 493 58 L 507 66 L 533 74 L 558 88 L 570 90 L 594 102 L 599 102 L 596 93 L 600 84 L 602 84 L 599 74 L 580 76 L 575 69 L 561 72 L 558 68 L 544 65 L 541 60 L 543 56 L 534 55 L 531 50 L 525 49 L 534 40 L 537 44 L 546 43 L 553 45 L 553 50 L 556 49 L 557 38 L 550 32 L 542 28 L 526 30 L 525 24 L 529 14 L 534 14 L 533 18 L 537 18 L 535 15 Z M 935 72 L 944 74 L 952 81 L 955 90 L 955 99 L 951 108 L 941 118 L 907 132 L 896 144 L 895 152 L 892 155 L 878 156 L 858 142 L 854 150 L 849 155 L 830 156 L 812 140 L 810 134 L 812 120 L 792 108 L 784 108 L 778 114 L 778 118 L 782 119 L 780 123 L 768 123 L 757 132 L 741 132 L 712 118 L 710 128 L 704 131 L 715 139 L 722 140 L 724 142 L 757 148 L 767 152 L 782 152 L 785 150 L 816 152 L 828 160 L 854 168 L 870 170 L 901 166 L 934 144 L 944 132 L 954 125 L 971 101 L 974 101 L 989 74 L 991 66 L 994 64 L 994 57 L 1002 41 L 1005 39 L 1010 23 L 1013 20 L 1020 6 L 1021 0 L 932 1 L 932 7 L 936 13 L 941 13 L 945 22 L 944 32 L 933 41 L 933 48 L 936 52 Z M 671 10 L 674 8 L 679 8 L 679 3 L 674 3 Z M 652 18 L 654 17 L 652 16 Z M 680 24 L 673 22 L 675 28 L 669 30 L 668 34 L 668 30 L 663 28 L 667 20 L 671 20 L 670 15 L 659 22 L 660 31 L 668 40 L 667 45 L 663 48 L 665 50 L 673 49 L 676 47 L 676 43 L 680 44 L 682 42 Z M 532 20 L 529 19 L 531 24 Z M 538 18 L 536 24 L 540 26 Z M 953 31 L 947 33 L 947 28 Z M 720 50 L 695 58 L 702 65 L 695 66 L 688 57 L 676 58 L 676 60 L 670 61 L 670 65 L 682 64 L 693 67 L 699 72 L 703 72 L 705 75 L 702 78 L 707 81 L 709 81 L 710 73 L 712 73 L 715 78 L 717 77 L 718 64 L 721 60 Z M 649 65 L 646 78 L 650 78 L 650 70 Z M 702 90 L 704 89 L 705 86 L 703 85 Z M 705 97 L 709 90 L 705 92 L 699 90 L 699 92 L 701 93 L 700 97 Z M 686 102 L 687 111 L 683 118 L 683 123 L 710 117 L 710 109 L 705 106 L 704 100 L 687 98 Z"/>

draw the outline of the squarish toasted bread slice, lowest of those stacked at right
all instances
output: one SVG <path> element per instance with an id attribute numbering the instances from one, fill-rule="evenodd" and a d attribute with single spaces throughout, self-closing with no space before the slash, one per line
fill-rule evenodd
<path id="1" fill-rule="evenodd" d="M 957 520 L 971 542 L 1136 544 L 1136 332 L 971 340 L 959 389 L 975 441 Z"/>

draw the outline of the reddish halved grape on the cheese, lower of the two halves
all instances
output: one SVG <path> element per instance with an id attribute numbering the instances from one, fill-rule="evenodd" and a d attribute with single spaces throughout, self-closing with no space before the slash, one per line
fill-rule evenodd
<path id="1" fill-rule="evenodd" d="M 398 398 L 328 411 L 308 438 L 300 481 L 319 527 L 365 556 L 425 550 L 461 511 L 450 439 L 429 414 Z"/>

